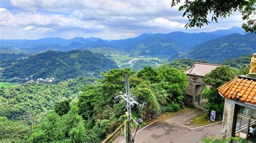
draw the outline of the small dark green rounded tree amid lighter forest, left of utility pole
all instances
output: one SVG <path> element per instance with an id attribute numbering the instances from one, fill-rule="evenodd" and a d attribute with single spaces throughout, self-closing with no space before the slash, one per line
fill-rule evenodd
<path id="1" fill-rule="evenodd" d="M 54 105 L 54 111 L 59 115 L 65 115 L 69 112 L 70 106 L 69 106 L 69 100 L 65 99 L 63 101 L 57 102 Z"/>

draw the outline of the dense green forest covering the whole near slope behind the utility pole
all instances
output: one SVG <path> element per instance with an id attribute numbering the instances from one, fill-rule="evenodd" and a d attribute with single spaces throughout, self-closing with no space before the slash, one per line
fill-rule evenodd
<path id="1" fill-rule="evenodd" d="M 145 67 L 138 73 L 129 68 L 112 69 L 102 75 L 104 78 L 98 81 L 80 77 L 58 84 L 26 83 L 1 90 L 0 138 L 5 141 L 103 140 L 126 118 L 125 102 L 118 103 L 112 98 L 119 91 L 125 92 L 124 75 L 130 75 L 133 97 L 139 103 L 147 103 L 145 109 L 140 106 L 132 109 L 133 118 L 146 121 L 184 106 L 187 77 L 183 71 L 168 65 L 156 69 Z"/>

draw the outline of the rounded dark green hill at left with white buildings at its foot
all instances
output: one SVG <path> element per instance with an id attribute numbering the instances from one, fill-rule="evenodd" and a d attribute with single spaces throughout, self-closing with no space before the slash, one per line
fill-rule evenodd
<path id="1" fill-rule="evenodd" d="M 102 71 L 118 68 L 116 63 L 103 54 L 91 51 L 69 51 L 31 55 L 29 58 L 5 61 L 1 64 L 2 79 L 11 78 L 48 78 L 66 80 L 76 76 L 98 76 Z"/>

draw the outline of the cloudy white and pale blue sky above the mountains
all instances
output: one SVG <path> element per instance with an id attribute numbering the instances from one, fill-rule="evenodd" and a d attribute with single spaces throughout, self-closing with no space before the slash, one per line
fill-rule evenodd
<path id="1" fill-rule="evenodd" d="M 0 39 L 99 37 L 125 39 L 142 33 L 209 32 L 241 26 L 241 13 L 203 28 L 184 28 L 187 18 L 171 0 L 0 0 Z"/>

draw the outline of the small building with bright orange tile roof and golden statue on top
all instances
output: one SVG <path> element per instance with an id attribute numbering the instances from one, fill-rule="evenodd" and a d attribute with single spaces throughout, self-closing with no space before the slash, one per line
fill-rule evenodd
<path id="1" fill-rule="evenodd" d="M 251 68 L 252 65 L 255 67 L 251 63 Z M 251 71 L 218 88 L 219 94 L 225 98 L 223 138 L 239 137 L 256 142 L 256 74 Z"/>

